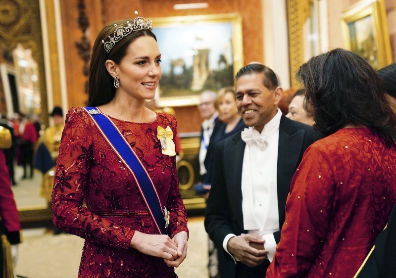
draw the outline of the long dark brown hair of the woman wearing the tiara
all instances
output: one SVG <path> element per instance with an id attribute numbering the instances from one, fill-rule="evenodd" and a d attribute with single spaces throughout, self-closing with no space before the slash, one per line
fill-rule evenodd
<path id="1" fill-rule="evenodd" d="M 132 44 L 137 38 L 142 36 L 153 37 L 155 41 L 155 35 L 150 30 L 140 30 L 132 32 L 126 37 L 122 38 L 117 42 L 107 53 L 104 50 L 103 41 L 109 40 L 108 36 L 113 36 L 115 30 L 114 24 L 117 26 L 127 25 L 127 20 L 119 20 L 110 23 L 103 27 L 96 38 L 94 47 L 92 49 L 92 58 L 89 73 L 89 85 L 88 85 L 88 106 L 99 106 L 109 102 L 113 99 L 116 89 L 114 88 L 113 77 L 107 72 L 105 62 L 106 60 L 112 60 L 116 64 L 119 64 L 122 58 L 126 55 L 128 46 Z"/>

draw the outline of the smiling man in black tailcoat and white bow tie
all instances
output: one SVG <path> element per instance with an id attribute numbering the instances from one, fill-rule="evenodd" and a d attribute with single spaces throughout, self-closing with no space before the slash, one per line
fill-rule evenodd
<path id="1" fill-rule="evenodd" d="M 249 64 L 236 79 L 238 110 L 249 128 L 216 145 L 205 229 L 224 249 L 221 277 L 264 277 L 293 174 L 317 136 L 282 115 L 283 90 L 270 68 Z"/>

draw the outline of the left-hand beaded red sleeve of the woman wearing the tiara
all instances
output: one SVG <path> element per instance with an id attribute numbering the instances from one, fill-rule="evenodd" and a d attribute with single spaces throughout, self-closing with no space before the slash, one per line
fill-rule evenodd
<path id="1" fill-rule="evenodd" d="M 53 223 L 59 229 L 112 248 L 128 250 L 134 230 L 114 224 L 83 207 L 94 157 L 93 122 L 82 108 L 66 116 L 52 192 Z"/>

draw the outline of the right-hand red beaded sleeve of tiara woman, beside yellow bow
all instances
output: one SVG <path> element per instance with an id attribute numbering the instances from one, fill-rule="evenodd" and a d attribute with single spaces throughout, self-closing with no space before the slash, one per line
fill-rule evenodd
<path id="1" fill-rule="evenodd" d="M 177 121 L 176 118 L 172 117 L 172 130 L 174 134 L 177 134 Z M 176 137 L 174 137 L 175 139 Z M 172 180 L 169 190 L 169 196 L 166 203 L 166 207 L 170 212 L 169 221 L 169 235 L 172 238 L 176 233 L 186 231 L 189 233 L 187 228 L 187 211 L 183 204 L 183 199 L 179 191 L 179 179 L 177 176 L 176 169 L 176 157 L 172 158 Z"/>

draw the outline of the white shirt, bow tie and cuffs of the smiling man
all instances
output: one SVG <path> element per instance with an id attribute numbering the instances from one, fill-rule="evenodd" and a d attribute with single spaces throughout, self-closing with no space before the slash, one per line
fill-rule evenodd
<path id="1" fill-rule="evenodd" d="M 261 133 L 249 127 L 241 134 L 246 142 L 241 181 L 244 229 L 262 236 L 270 262 L 276 249 L 273 232 L 280 230 L 277 164 L 281 116 L 282 112 L 278 109 Z M 233 236 L 235 234 L 228 234 L 224 238 L 223 248 L 227 253 L 227 242 Z"/>

